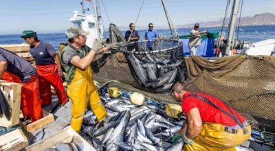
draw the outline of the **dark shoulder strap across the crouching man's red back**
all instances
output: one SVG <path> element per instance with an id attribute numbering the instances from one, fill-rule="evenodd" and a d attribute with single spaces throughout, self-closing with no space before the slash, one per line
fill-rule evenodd
<path id="1" fill-rule="evenodd" d="M 226 104 L 225 106 L 228 107 L 228 109 L 231 111 L 231 114 L 228 113 L 228 111 L 223 110 L 223 108 L 217 106 L 216 104 L 213 104 L 212 102 L 210 102 L 210 100 L 206 99 L 205 97 L 202 97 L 200 95 L 197 94 L 191 94 L 188 95 L 187 97 L 197 97 L 199 100 L 202 100 L 203 102 L 206 102 L 207 104 L 209 104 L 210 106 L 213 106 L 214 108 L 217 108 L 219 111 L 223 112 L 225 115 L 228 115 L 228 117 L 230 117 L 231 119 L 233 119 L 239 126 L 241 126 L 241 128 L 243 128 L 243 124 L 241 123 L 241 120 L 238 119 L 236 117 L 236 115 L 234 115 L 234 113 L 232 112 L 232 109 L 230 107 L 228 107 Z"/>

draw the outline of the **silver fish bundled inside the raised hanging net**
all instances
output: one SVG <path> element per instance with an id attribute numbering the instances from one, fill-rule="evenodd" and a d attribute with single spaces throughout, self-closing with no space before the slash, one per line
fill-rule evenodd
<path id="1" fill-rule="evenodd" d="M 134 54 L 128 56 L 133 77 L 139 84 L 157 91 L 170 90 L 175 80 L 184 80 L 181 66 L 183 60 L 157 58 L 151 54 L 138 59 Z"/>

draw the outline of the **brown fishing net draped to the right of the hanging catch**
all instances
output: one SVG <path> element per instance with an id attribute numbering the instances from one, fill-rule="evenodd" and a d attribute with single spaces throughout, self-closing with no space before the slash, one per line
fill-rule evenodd
<path id="1" fill-rule="evenodd" d="M 275 57 L 186 58 L 187 88 L 223 100 L 254 129 L 275 132 Z"/>

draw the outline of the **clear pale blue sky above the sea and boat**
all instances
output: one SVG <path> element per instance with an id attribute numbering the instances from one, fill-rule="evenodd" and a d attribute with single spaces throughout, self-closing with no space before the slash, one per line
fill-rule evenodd
<path id="1" fill-rule="evenodd" d="M 65 32 L 71 25 L 69 18 L 74 10 L 81 12 L 81 0 L 1 0 L 0 35 L 21 34 L 23 30 L 39 33 Z M 135 22 L 143 0 L 100 0 L 100 10 L 104 27 L 111 23 L 127 27 Z M 201 21 L 217 21 L 223 18 L 228 0 L 165 0 L 166 8 L 174 25 L 184 25 Z M 102 7 L 106 8 L 106 12 Z M 230 0 L 230 5 L 233 1 Z M 243 0 L 241 16 L 253 16 L 264 12 L 275 14 L 274 0 Z M 85 1 L 85 8 L 92 3 Z M 230 6 L 231 8 L 231 6 Z M 91 10 L 86 14 L 93 13 Z M 144 0 L 137 27 L 154 23 L 157 27 L 168 27 L 161 0 Z"/>

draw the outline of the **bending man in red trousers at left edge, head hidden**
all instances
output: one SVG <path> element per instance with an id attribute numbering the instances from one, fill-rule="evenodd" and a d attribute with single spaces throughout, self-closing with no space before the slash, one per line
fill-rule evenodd
<path id="1" fill-rule="evenodd" d="M 39 97 L 39 77 L 36 69 L 23 58 L 7 49 L 0 48 L 0 78 L 22 84 L 21 111 L 24 120 L 31 122 L 43 117 Z"/>

